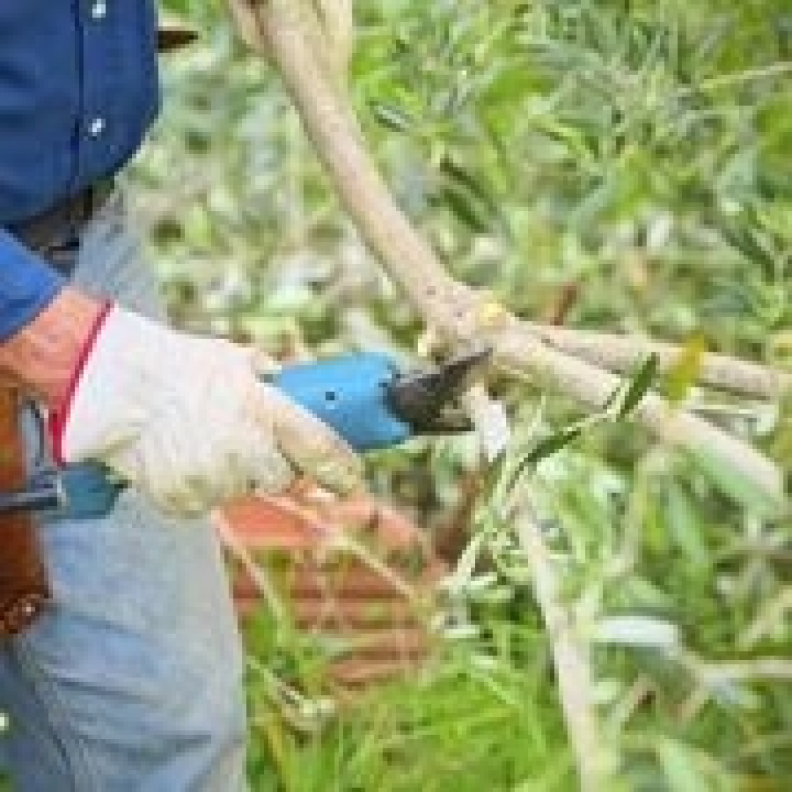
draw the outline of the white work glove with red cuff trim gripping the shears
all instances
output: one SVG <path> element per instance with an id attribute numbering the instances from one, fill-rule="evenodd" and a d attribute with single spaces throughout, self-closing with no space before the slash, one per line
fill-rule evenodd
<path id="1" fill-rule="evenodd" d="M 55 458 L 101 461 L 181 515 L 251 489 L 281 492 L 295 470 L 353 489 L 360 459 L 333 429 L 261 383 L 254 357 L 251 348 L 107 307 L 51 413 Z"/>

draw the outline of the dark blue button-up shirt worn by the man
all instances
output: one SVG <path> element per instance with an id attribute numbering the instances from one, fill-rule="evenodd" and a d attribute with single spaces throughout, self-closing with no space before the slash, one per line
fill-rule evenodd
<path id="1" fill-rule="evenodd" d="M 57 293 L 8 227 L 120 168 L 157 115 L 154 0 L 0 0 L 0 341 Z"/>

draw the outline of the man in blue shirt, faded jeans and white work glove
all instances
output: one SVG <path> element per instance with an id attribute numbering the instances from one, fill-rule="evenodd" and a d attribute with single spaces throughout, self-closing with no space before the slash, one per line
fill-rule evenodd
<path id="1" fill-rule="evenodd" d="M 20 792 L 242 789 L 241 652 L 202 515 L 295 469 L 360 475 L 249 352 L 162 321 L 111 189 L 158 112 L 156 42 L 154 0 L 0 3 L 0 374 L 48 409 L 55 459 L 132 485 L 104 519 L 38 525 L 53 601 L 0 655 Z"/>

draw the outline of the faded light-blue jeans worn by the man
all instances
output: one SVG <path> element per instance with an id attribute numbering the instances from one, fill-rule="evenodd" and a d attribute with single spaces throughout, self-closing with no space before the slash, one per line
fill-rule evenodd
<path id="1" fill-rule="evenodd" d="M 74 281 L 162 318 L 127 225 L 116 196 L 82 238 Z M 208 520 L 168 520 L 128 491 L 104 519 L 38 531 L 54 604 L 0 650 L 13 789 L 245 789 L 242 650 Z"/>

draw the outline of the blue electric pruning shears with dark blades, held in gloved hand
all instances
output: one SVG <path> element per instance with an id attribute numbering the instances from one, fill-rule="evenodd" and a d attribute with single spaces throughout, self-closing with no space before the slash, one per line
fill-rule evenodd
<path id="1" fill-rule="evenodd" d="M 489 348 L 482 348 L 436 367 L 402 371 L 390 356 L 364 352 L 284 367 L 267 381 L 363 452 L 416 435 L 470 430 L 457 400 L 489 356 Z M 112 509 L 124 486 L 100 463 L 40 470 L 24 488 L 0 493 L 0 514 L 36 511 L 71 520 L 97 518 Z"/>

